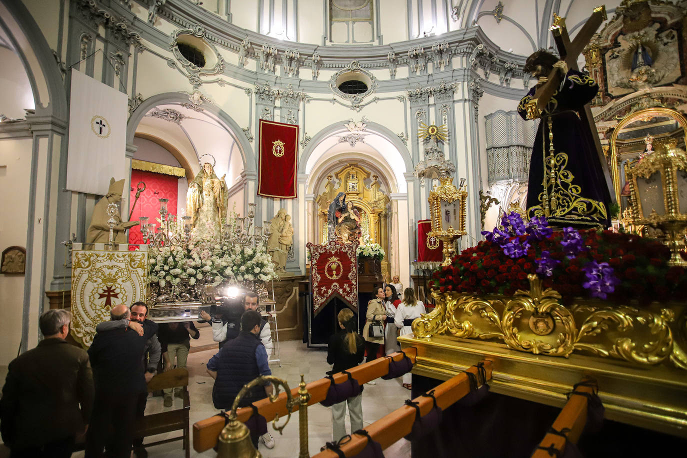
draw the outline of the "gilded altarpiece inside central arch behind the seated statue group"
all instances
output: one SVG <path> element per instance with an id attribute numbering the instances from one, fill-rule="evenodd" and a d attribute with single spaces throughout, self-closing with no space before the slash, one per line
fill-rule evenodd
<path id="1" fill-rule="evenodd" d="M 325 190 L 315 198 L 315 241 L 325 244 L 328 240 L 329 205 L 339 192 L 346 194 L 346 202 L 352 202 L 360 214 L 362 239 L 381 245 L 385 253 L 390 253 L 390 199 L 383 192 L 379 176 L 372 174 L 361 165 L 350 163 L 327 176 Z M 389 273 L 388 255 L 381 262 L 382 275 Z"/>

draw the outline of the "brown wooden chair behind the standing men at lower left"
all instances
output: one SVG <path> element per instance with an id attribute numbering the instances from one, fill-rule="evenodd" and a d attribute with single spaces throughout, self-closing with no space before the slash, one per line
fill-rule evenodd
<path id="1" fill-rule="evenodd" d="M 148 393 L 167 388 L 183 387 L 183 407 L 173 411 L 164 411 L 160 413 L 151 413 L 144 416 L 136 422 L 136 432 L 134 437 L 148 437 L 162 433 L 169 433 L 170 431 L 183 430 L 183 434 L 179 437 L 171 437 L 170 439 L 162 439 L 156 442 L 144 444 L 144 447 L 152 447 L 167 442 L 183 441 L 183 449 L 186 452 L 186 458 L 190 456 L 190 424 L 188 420 L 188 413 L 191 408 L 188 399 L 188 371 L 177 367 L 169 371 L 157 374 L 148 382 Z"/>

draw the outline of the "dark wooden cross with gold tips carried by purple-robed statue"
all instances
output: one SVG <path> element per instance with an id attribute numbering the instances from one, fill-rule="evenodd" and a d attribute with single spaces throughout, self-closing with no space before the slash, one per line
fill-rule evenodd
<path id="1" fill-rule="evenodd" d="M 556 43 L 556 47 L 558 48 L 561 59 L 565 60 L 565 63 L 569 69 L 578 70 L 578 56 L 592 39 L 592 36 L 596 33 L 596 30 L 601 23 L 606 19 L 607 16 L 605 5 L 600 5 L 594 8 L 592 16 L 589 17 L 585 25 L 583 25 L 580 32 L 578 32 L 577 36 L 575 36 L 575 39 L 571 43 L 570 36 L 568 36 L 567 28 L 565 27 L 565 18 L 554 14 L 554 22 L 549 30 L 553 33 L 554 41 Z M 534 92 L 532 100 L 530 100 L 525 107 L 528 119 L 537 119 L 541 117 L 542 108 L 548 104 L 548 102 L 551 100 L 551 96 L 556 89 L 560 87 L 560 85 L 561 73 L 559 69 L 552 69 L 548 75 L 547 82 L 542 84 L 539 89 Z M 601 170 L 603 170 L 603 174 L 606 179 L 606 185 L 608 187 L 609 194 L 611 195 L 611 203 L 616 203 L 616 193 L 613 191 L 613 181 L 608 170 L 606 157 L 601 148 L 601 142 L 599 140 L 598 131 L 596 130 L 596 124 L 594 124 L 592 109 L 589 108 L 589 104 L 585 105 L 584 111 L 580 113 L 580 119 L 583 123 L 589 125 L 589 131 L 592 133 L 592 138 L 594 139 L 594 144 L 596 145 L 596 153 L 598 154 L 598 159 L 601 163 Z M 611 215 L 609 214 L 609 216 Z"/>

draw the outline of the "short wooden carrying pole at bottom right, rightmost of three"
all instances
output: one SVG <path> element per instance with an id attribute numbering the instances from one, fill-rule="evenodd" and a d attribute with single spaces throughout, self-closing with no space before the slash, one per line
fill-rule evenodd
<path id="1" fill-rule="evenodd" d="M 576 388 L 576 391 L 593 393 L 594 387 L 580 385 Z M 576 444 L 578 439 L 580 439 L 585 424 L 587 424 L 587 401 L 587 396 L 571 395 L 552 425 L 552 428 L 556 431 L 561 431 L 563 428 L 570 428 L 570 432 L 567 433 L 567 441 L 573 444 Z M 565 437 L 554 433 L 547 433 L 539 443 L 539 446 L 547 448 L 553 446 L 562 453 L 563 448 L 565 448 Z M 551 455 L 549 455 L 546 450 L 542 449 L 534 450 L 532 454 L 532 458 L 550 458 L 550 456 Z"/>

